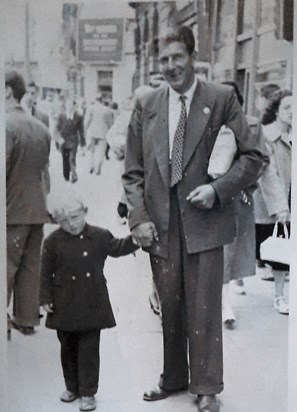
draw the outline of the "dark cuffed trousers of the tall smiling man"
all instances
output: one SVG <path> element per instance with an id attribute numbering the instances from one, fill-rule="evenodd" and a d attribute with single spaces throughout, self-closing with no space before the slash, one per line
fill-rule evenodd
<path id="1" fill-rule="evenodd" d="M 175 188 L 170 194 L 169 256 L 151 255 L 151 266 L 162 308 L 164 368 L 160 386 L 165 390 L 187 386 L 190 370 L 192 393 L 220 393 L 223 247 L 188 254 Z"/>

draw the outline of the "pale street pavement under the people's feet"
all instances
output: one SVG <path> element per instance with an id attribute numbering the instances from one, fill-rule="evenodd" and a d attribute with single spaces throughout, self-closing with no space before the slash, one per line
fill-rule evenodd
<path id="1" fill-rule="evenodd" d="M 118 162 L 105 162 L 101 176 L 88 173 L 88 154 L 77 156 L 78 182 L 89 207 L 88 222 L 122 237 L 128 227 L 117 219 Z M 51 156 L 53 198 L 69 188 L 62 179 L 60 154 Z M 56 226 L 47 225 L 48 234 Z M 288 317 L 273 309 L 273 282 L 264 282 L 258 269 L 245 281 L 246 295 L 232 294 L 237 326 L 224 331 L 225 390 L 221 412 L 286 411 Z M 144 390 L 153 387 L 162 370 L 160 319 L 150 309 L 151 274 L 142 251 L 106 262 L 105 275 L 117 326 L 101 338 L 100 385 L 97 410 L 101 412 L 194 412 L 195 396 L 182 393 L 159 402 L 144 402 Z M 288 292 L 286 284 L 286 293 Z M 79 402 L 64 404 L 59 395 L 64 383 L 56 333 L 44 327 L 35 335 L 12 331 L 8 343 L 7 412 L 72 412 Z M 6 412 L 6 411 L 3 411 Z"/>

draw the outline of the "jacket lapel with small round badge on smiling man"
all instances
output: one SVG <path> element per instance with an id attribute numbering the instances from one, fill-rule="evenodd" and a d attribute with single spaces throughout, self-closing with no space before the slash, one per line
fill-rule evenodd
<path id="1" fill-rule="evenodd" d="M 198 81 L 187 119 L 184 140 L 183 169 L 186 168 L 201 140 L 204 130 L 209 122 L 214 101 L 215 94 L 212 89 L 210 90 L 204 83 Z"/>

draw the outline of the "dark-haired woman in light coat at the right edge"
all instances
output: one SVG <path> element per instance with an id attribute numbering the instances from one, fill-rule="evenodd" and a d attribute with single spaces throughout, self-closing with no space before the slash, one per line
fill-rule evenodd
<path id="1" fill-rule="evenodd" d="M 292 93 L 289 90 L 276 92 L 266 111 L 271 116 L 271 123 L 263 126 L 263 133 L 270 164 L 259 178 L 258 189 L 254 193 L 260 243 L 272 235 L 276 222 L 280 223 L 281 233 L 283 225 L 290 222 Z M 284 282 L 289 266 L 268 263 L 275 280 L 274 307 L 279 313 L 288 314 Z"/>

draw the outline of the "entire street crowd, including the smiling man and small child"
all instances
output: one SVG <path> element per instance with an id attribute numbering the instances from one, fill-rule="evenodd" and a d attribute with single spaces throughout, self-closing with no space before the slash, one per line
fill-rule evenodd
<path id="1" fill-rule="evenodd" d="M 145 401 L 189 389 L 200 412 L 218 412 L 223 390 L 222 327 L 236 316 L 229 284 L 271 268 L 274 308 L 287 315 L 289 266 L 263 261 L 260 245 L 290 230 L 292 93 L 277 85 L 259 93 L 259 118 L 242 111 L 234 82 L 195 76 L 195 39 L 186 26 L 160 41 L 162 85 L 142 86 L 118 107 L 103 96 L 89 106 L 5 73 L 7 197 L 7 334 L 32 335 L 40 323 L 57 330 L 66 390 L 80 410 L 96 408 L 100 331 L 115 326 L 103 273 L 107 256 L 149 253 L 149 301 L 161 317 L 164 364 Z M 61 194 L 51 210 L 50 150 L 62 157 L 69 184 L 80 178 L 77 151 L 89 151 L 100 175 L 109 154 L 120 163 L 117 212 L 131 234 L 114 238 L 86 222 L 79 196 Z M 100 211 L 98 211 L 100 213 Z M 43 239 L 43 225 L 59 228 Z M 13 303 L 11 305 L 11 299 Z M 9 312 L 9 311 L 8 311 Z"/>

